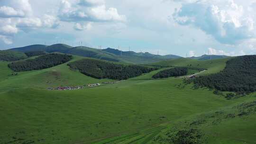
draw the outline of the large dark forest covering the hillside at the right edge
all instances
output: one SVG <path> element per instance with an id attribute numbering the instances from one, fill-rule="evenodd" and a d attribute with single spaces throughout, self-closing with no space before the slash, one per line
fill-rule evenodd
<path id="1" fill-rule="evenodd" d="M 223 71 L 201 76 L 192 81 L 196 86 L 220 91 L 254 92 L 256 91 L 256 55 L 233 58 L 227 62 Z"/>

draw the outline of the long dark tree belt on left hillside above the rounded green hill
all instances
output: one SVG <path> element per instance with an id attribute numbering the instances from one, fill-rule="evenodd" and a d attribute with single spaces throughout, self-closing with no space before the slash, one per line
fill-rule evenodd
<path id="1" fill-rule="evenodd" d="M 10 63 L 8 66 L 14 72 L 25 72 L 50 68 L 62 63 L 66 63 L 71 59 L 72 56 L 66 54 L 45 54 L 35 59 Z"/>

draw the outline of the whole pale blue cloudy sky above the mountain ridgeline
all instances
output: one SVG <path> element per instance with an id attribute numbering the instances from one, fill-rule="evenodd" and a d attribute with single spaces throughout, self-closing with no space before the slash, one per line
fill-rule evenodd
<path id="1" fill-rule="evenodd" d="M 0 50 L 63 43 L 200 56 L 256 54 L 256 0 L 0 0 Z"/>

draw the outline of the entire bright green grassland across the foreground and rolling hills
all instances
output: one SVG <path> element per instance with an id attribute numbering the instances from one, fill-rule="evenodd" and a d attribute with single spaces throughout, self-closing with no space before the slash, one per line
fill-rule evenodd
<path id="1" fill-rule="evenodd" d="M 81 58 L 75 56 L 72 61 Z M 199 64 L 207 73 L 214 73 L 222 70 L 226 61 L 162 64 Z M 227 100 L 208 89 L 194 90 L 183 79 L 149 79 L 160 70 L 116 84 L 50 91 L 46 89 L 111 80 L 87 77 L 70 70 L 67 63 L 9 76 L 7 64 L 0 62 L 0 144 L 170 144 L 167 131 L 190 127 L 202 130 L 210 144 L 256 141 L 255 113 L 238 117 L 237 108 L 256 100 L 254 94 Z M 223 113 L 215 116 L 219 111 Z M 224 118 L 229 113 L 236 117 Z M 190 125 L 200 118 L 204 123 Z"/>

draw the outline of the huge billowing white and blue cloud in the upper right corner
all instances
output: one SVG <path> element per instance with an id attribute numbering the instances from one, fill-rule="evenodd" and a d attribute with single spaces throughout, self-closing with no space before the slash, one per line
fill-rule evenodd
<path id="1" fill-rule="evenodd" d="M 180 25 L 200 28 L 222 44 L 234 45 L 254 37 L 254 19 L 233 0 L 184 2 L 173 18 Z"/>

